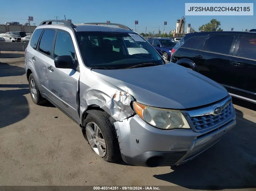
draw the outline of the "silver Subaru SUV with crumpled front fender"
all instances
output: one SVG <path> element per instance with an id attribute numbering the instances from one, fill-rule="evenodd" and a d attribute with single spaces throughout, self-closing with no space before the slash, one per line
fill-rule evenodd
<path id="1" fill-rule="evenodd" d="M 130 28 L 56 21 L 43 21 L 25 51 L 32 100 L 49 100 L 73 119 L 105 161 L 178 165 L 235 126 L 225 88 L 166 64 Z"/>

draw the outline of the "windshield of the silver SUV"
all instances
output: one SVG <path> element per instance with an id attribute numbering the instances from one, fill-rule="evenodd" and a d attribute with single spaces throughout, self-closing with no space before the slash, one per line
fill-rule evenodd
<path id="1" fill-rule="evenodd" d="M 76 32 L 76 37 L 88 67 L 119 69 L 142 63 L 164 64 L 156 50 L 138 34 Z"/>

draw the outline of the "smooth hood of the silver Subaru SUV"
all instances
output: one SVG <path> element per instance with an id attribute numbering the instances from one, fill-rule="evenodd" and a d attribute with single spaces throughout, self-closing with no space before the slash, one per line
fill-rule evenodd
<path id="1" fill-rule="evenodd" d="M 136 101 L 154 107 L 188 109 L 213 103 L 228 96 L 228 92 L 220 84 L 174 63 L 91 71 L 128 92 Z"/>

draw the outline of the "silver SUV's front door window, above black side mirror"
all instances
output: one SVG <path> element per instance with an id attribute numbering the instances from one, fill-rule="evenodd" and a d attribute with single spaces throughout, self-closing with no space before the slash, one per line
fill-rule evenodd
<path id="1" fill-rule="evenodd" d="M 55 47 L 54 47 L 54 58 L 57 56 L 69 55 L 75 60 L 75 48 L 72 39 L 68 33 L 58 31 Z"/>

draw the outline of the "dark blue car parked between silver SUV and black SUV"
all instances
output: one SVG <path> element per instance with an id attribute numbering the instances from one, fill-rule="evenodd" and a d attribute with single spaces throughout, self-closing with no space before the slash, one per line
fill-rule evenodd
<path id="1" fill-rule="evenodd" d="M 163 58 L 170 61 L 171 49 L 176 45 L 173 38 L 151 38 L 148 42 L 158 51 L 163 53 Z"/>

